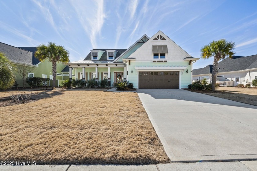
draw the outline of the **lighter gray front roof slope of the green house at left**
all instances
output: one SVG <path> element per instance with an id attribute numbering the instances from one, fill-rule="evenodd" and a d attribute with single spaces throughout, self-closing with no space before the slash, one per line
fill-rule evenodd
<path id="1" fill-rule="evenodd" d="M 0 42 L 0 52 L 4 53 L 10 61 L 33 64 L 31 51 L 23 50 Z"/>

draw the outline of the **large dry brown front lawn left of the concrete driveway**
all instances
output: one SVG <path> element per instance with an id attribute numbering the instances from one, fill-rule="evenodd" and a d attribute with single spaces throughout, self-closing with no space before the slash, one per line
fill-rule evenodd
<path id="1" fill-rule="evenodd" d="M 137 93 L 52 90 L 32 98 L 37 101 L 0 107 L 0 161 L 169 162 Z"/>

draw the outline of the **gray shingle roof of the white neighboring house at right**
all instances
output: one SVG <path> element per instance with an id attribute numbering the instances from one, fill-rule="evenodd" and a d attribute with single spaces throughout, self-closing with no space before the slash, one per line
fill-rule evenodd
<path id="1" fill-rule="evenodd" d="M 212 69 L 210 72 L 206 68 L 193 69 L 193 75 L 199 74 L 207 74 L 212 73 Z M 212 67 L 212 65 L 211 65 Z M 257 54 L 251 56 L 233 56 L 233 58 L 225 58 L 224 60 L 218 63 L 218 72 L 231 72 L 231 71 L 240 71 L 245 69 L 257 68 Z"/>

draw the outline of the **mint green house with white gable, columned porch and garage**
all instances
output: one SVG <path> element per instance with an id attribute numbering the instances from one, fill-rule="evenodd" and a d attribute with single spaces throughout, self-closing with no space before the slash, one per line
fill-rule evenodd
<path id="1" fill-rule="evenodd" d="M 108 80 L 111 86 L 127 80 L 139 89 L 181 89 L 191 84 L 192 63 L 198 59 L 159 31 L 151 38 L 143 35 L 128 49 L 93 49 L 68 66 L 70 79 L 75 70 L 78 79 Z"/>

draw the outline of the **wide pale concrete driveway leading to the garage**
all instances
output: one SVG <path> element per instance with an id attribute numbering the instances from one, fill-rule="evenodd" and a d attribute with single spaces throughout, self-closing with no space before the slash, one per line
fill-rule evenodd
<path id="1" fill-rule="evenodd" d="M 257 106 L 187 90 L 137 92 L 172 162 L 257 159 Z"/>

